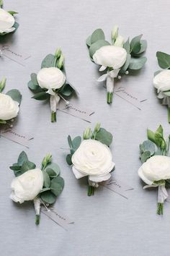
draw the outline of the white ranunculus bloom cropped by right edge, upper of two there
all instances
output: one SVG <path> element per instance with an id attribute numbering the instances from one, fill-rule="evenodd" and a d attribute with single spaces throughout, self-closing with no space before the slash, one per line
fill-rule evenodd
<path id="1" fill-rule="evenodd" d="M 161 91 L 170 90 L 170 70 L 165 69 L 153 78 L 153 85 L 158 90 L 158 93 Z"/>

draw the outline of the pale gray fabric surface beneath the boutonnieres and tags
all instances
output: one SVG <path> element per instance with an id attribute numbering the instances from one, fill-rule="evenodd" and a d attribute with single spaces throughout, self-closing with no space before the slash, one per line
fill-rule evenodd
<path id="1" fill-rule="evenodd" d="M 158 70 L 156 51 L 170 53 L 168 0 L 30 0 L 4 1 L 4 9 L 19 12 L 19 29 L 12 35 L 13 46 L 32 55 L 27 67 L 9 59 L 0 59 L 0 76 L 6 76 L 6 90 L 19 88 L 23 95 L 16 124 L 20 132 L 30 132 L 35 140 L 30 149 L 0 139 L 0 249 L 1 255 L 15 256 L 168 256 L 170 205 L 164 217 L 156 215 L 156 189 L 143 191 L 138 178 L 138 145 L 146 139 L 146 129 L 158 124 L 169 133 L 166 106 L 161 106 L 153 90 L 153 72 Z M 119 25 L 125 38 L 143 33 L 148 40 L 148 62 L 138 75 L 124 77 L 122 86 L 148 98 L 142 111 L 115 96 L 106 103 L 105 89 L 96 82 L 97 66 L 91 63 L 86 37 L 102 27 L 109 40 L 113 25 Z M 27 89 L 31 72 L 38 72 L 42 58 L 60 46 L 66 56 L 68 79 L 79 90 L 79 103 L 96 111 L 97 121 L 114 135 L 113 158 L 117 179 L 134 187 L 129 199 L 100 188 L 94 197 L 86 196 L 86 179 L 77 181 L 65 161 L 67 136 L 81 135 L 89 125 L 85 121 L 58 112 L 58 122 L 50 123 L 50 109 L 32 100 Z M 41 216 L 35 226 L 31 203 L 17 205 L 9 199 L 14 177 L 9 165 L 25 150 L 31 161 L 40 164 L 50 152 L 61 166 L 66 186 L 55 208 L 75 221 L 69 231 Z"/>

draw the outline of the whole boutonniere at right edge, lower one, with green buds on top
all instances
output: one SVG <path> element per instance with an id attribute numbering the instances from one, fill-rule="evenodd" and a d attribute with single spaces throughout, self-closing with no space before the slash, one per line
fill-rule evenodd
<path id="1" fill-rule="evenodd" d="M 166 187 L 170 185 L 169 139 L 165 140 L 161 125 L 156 132 L 148 129 L 148 140 L 140 144 L 140 160 L 143 165 L 138 170 L 140 179 L 148 187 L 158 187 L 157 213 L 163 214 L 164 201 L 168 197 Z"/>

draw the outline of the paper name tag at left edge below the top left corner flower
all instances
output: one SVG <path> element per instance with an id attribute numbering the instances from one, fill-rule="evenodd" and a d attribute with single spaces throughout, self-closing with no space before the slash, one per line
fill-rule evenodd
<path id="1" fill-rule="evenodd" d="M 29 54 L 23 54 L 17 48 L 9 45 L 0 45 L 1 58 L 6 57 L 12 59 L 12 61 L 17 62 L 18 64 L 25 66 L 27 64 L 27 59 L 31 56 Z"/>

